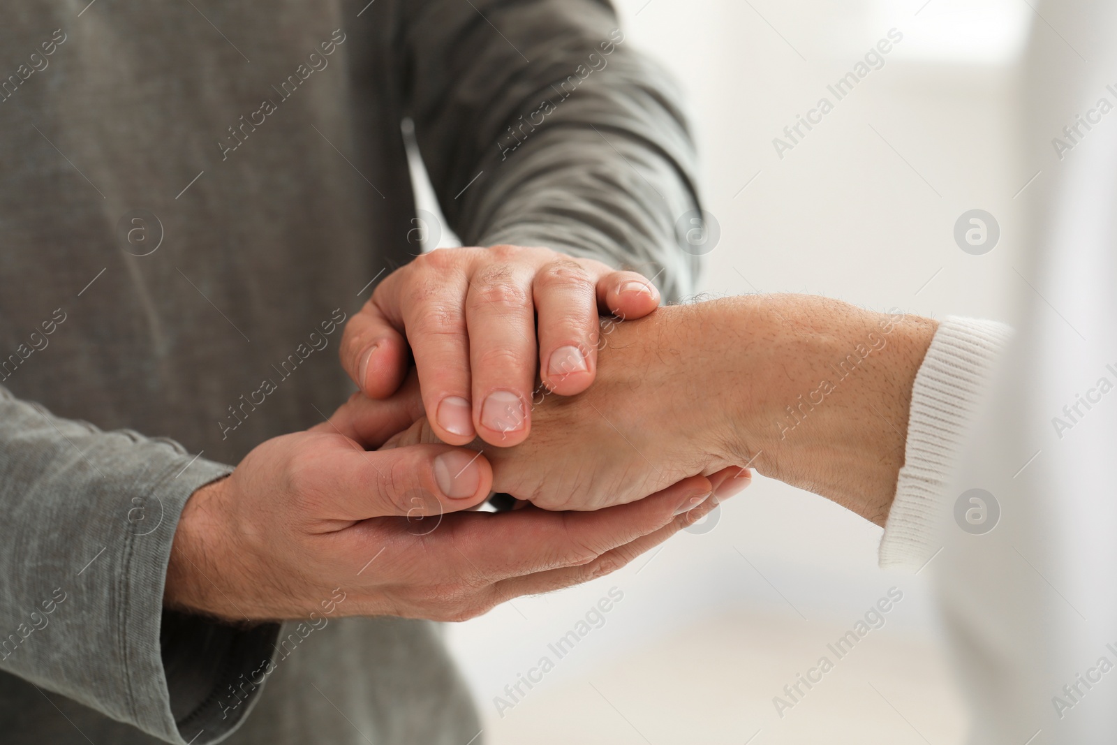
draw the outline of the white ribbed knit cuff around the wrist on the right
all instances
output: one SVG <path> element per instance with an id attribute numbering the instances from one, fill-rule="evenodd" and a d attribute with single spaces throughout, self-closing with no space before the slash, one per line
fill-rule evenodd
<path id="1" fill-rule="evenodd" d="M 896 481 L 882 569 L 918 570 L 935 551 L 960 450 L 1012 329 L 993 321 L 948 317 L 916 373 L 904 467 Z"/>

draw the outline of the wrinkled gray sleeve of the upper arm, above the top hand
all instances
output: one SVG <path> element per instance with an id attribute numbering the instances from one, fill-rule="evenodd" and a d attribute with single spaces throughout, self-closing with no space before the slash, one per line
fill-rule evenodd
<path id="1" fill-rule="evenodd" d="M 678 92 L 604 0 L 412 0 L 404 105 L 466 245 L 547 246 L 693 292 Z M 679 228 L 677 226 L 684 226 Z"/>

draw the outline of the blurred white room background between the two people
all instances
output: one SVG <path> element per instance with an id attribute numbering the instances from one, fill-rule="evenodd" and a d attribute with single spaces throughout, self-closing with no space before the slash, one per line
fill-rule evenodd
<path id="1" fill-rule="evenodd" d="M 627 45 L 682 84 L 720 225 L 701 290 L 825 294 L 876 309 L 1006 317 L 1033 175 L 1019 152 L 1023 0 L 619 0 Z M 827 89 L 903 40 L 843 99 Z M 1053 32 L 1039 21 L 1035 32 Z M 894 32 L 895 34 L 895 32 Z M 773 137 L 834 109 L 781 159 Z M 429 193 L 421 206 L 435 211 Z M 963 252 L 971 209 L 1001 227 Z M 1018 264 L 1018 266 L 1020 266 Z M 713 520 L 714 518 L 709 518 Z M 705 531 L 705 532 L 701 532 Z M 716 524 L 600 581 L 448 628 L 491 745 L 961 743 L 965 714 L 924 576 L 877 569 L 880 529 L 757 477 Z M 844 659 L 827 648 L 890 588 L 904 599 Z M 623 600 L 569 655 L 548 649 L 611 588 Z M 541 657 L 542 682 L 505 691 Z M 798 674 L 836 661 L 780 716 Z M 801 687 L 802 690 L 805 688 Z"/>

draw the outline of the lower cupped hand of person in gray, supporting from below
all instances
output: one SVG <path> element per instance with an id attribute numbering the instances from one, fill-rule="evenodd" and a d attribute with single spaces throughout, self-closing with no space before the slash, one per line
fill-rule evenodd
<path id="1" fill-rule="evenodd" d="M 195 491 L 164 602 L 227 620 L 293 619 L 340 586 L 344 614 L 464 620 L 611 572 L 716 504 L 699 477 L 592 514 L 468 512 L 491 485 L 480 453 L 447 445 L 370 452 L 354 441 L 383 441 L 418 411 L 413 380 L 391 401 L 355 394 L 328 422 L 264 442 Z"/>

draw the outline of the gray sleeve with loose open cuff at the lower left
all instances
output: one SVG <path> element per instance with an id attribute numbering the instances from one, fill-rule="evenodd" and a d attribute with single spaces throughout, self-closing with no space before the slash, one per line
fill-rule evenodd
<path id="1" fill-rule="evenodd" d="M 255 687 L 229 686 L 270 659 L 278 627 L 162 609 L 182 506 L 230 469 L 3 388 L 0 442 L 0 669 L 168 742 L 231 732 Z"/>

